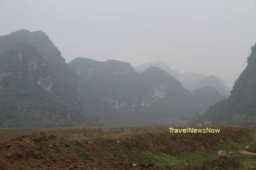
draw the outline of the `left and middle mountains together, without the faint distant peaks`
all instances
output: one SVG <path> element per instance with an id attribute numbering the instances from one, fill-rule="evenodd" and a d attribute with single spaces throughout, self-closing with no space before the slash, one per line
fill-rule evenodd
<path id="1" fill-rule="evenodd" d="M 118 60 L 67 64 L 42 31 L 0 36 L 0 127 L 148 125 L 223 98 L 211 87 L 192 93 L 159 67 L 139 74 Z"/>

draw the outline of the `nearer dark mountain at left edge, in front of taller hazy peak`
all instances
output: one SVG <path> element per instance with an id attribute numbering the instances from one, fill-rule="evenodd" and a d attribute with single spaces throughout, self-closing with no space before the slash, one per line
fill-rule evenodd
<path id="1" fill-rule="evenodd" d="M 91 125 L 79 104 L 56 90 L 53 73 L 37 49 L 19 42 L 0 54 L 0 126 Z"/>

